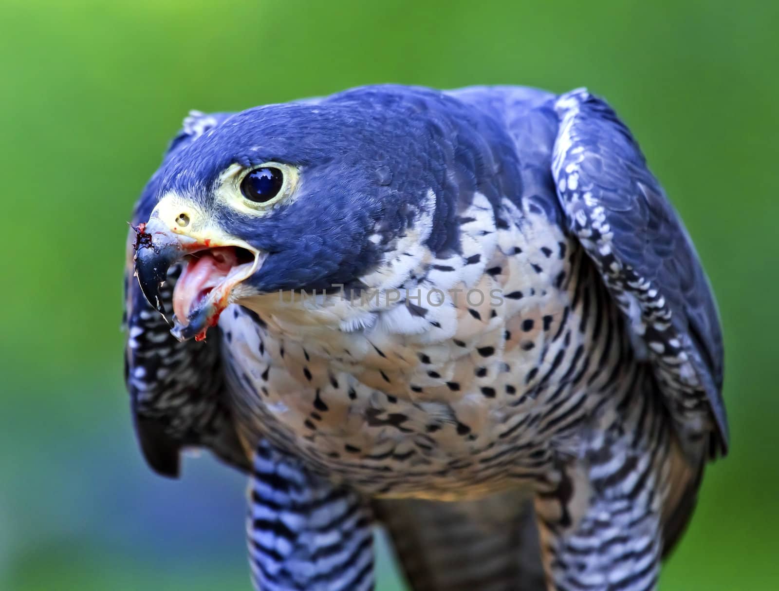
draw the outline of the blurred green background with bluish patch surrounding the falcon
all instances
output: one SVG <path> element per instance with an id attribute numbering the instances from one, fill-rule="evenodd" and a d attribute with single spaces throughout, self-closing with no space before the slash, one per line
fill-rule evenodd
<path id="1" fill-rule="evenodd" d="M 249 589 L 241 477 L 160 479 L 122 384 L 126 221 L 190 108 L 365 83 L 587 85 L 721 306 L 731 455 L 662 588 L 779 589 L 774 2 L 0 1 L 0 589 Z M 401 589 L 386 553 L 379 591 Z"/>

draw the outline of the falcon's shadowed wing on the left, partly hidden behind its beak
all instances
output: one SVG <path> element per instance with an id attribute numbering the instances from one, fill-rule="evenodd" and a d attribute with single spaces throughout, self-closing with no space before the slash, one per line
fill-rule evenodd
<path id="1" fill-rule="evenodd" d="M 168 147 L 165 161 L 227 116 L 192 111 Z M 136 203 L 132 227 L 146 221 L 157 203 L 160 170 Z M 133 276 L 135 239 L 136 232 L 131 228 L 125 267 L 125 384 L 146 462 L 164 476 L 178 476 L 181 448 L 202 446 L 224 461 L 247 469 L 247 460 L 220 400 L 224 376 L 219 339 L 182 343 L 170 334 L 164 317 L 146 302 Z M 173 287 L 180 272 L 180 266 L 171 267 L 161 292 L 168 311 L 172 310 Z"/>

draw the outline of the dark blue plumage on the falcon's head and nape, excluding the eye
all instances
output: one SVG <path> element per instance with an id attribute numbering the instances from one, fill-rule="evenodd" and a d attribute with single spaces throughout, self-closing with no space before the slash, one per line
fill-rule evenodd
<path id="1" fill-rule="evenodd" d="M 305 182 L 301 197 L 255 232 L 255 220 L 213 207 L 213 189 L 228 165 L 267 161 L 299 167 Z M 458 211 L 476 191 L 495 207 L 500 196 L 520 195 L 517 164 L 506 130 L 467 104 L 422 88 L 368 87 L 231 115 L 177 146 L 144 209 L 167 192 L 188 196 L 270 253 L 252 278 L 260 291 L 323 289 L 354 284 L 375 266 L 382 251 L 369 235 L 386 244 L 403 234 L 431 190 L 427 244 L 437 256 L 458 252 Z"/>

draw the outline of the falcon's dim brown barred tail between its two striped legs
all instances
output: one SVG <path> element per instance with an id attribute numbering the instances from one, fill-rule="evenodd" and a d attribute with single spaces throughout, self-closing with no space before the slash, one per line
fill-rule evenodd
<path id="1" fill-rule="evenodd" d="M 545 589 L 527 494 L 478 501 L 374 501 L 414 591 Z"/>

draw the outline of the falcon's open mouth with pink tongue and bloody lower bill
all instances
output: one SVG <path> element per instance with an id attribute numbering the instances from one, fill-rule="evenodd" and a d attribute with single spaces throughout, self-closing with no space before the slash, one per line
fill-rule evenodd
<path id="1" fill-rule="evenodd" d="M 204 338 L 206 329 L 216 324 L 221 311 L 231 303 L 233 288 L 252 275 L 263 260 L 263 254 L 255 255 L 240 246 L 220 246 L 188 254 L 173 290 L 178 330 L 189 333 L 195 329 L 196 338 Z"/>

